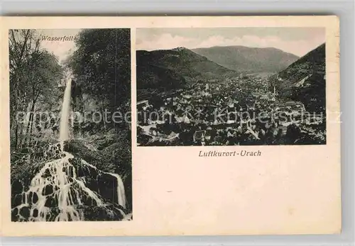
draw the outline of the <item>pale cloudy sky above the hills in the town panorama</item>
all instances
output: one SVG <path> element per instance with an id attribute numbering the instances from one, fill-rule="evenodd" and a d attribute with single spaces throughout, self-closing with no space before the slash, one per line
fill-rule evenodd
<path id="1" fill-rule="evenodd" d="M 325 42 L 324 28 L 137 28 L 136 50 L 242 45 L 301 57 Z"/>

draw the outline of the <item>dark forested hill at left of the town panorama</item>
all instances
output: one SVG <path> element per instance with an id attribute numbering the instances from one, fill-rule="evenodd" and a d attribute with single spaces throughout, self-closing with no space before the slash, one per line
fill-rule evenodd
<path id="1" fill-rule="evenodd" d="M 192 50 L 138 50 L 137 86 L 146 88 L 180 88 L 191 80 L 220 79 L 237 74 Z"/>

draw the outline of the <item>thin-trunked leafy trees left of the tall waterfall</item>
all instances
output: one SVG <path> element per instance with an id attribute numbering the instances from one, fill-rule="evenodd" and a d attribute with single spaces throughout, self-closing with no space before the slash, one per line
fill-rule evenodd
<path id="1" fill-rule="evenodd" d="M 35 111 L 58 95 L 62 67 L 53 54 L 40 48 L 35 30 L 9 31 L 9 62 L 11 147 L 16 149 L 31 142 Z M 19 113 L 22 121 L 17 121 Z"/>

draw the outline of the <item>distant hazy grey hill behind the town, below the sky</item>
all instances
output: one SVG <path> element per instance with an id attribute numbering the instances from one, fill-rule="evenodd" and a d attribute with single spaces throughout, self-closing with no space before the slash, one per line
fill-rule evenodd
<path id="1" fill-rule="evenodd" d="M 273 47 L 215 46 L 192 50 L 223 67 L 239 72 L 280 72 L 298 59 Z"/>

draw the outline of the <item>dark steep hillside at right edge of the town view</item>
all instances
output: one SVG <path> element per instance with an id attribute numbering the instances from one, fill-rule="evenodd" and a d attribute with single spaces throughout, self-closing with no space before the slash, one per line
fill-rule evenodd
<path id="1" fill-rule="evenodd" d="M 280 96 L 302 101 L 309 111 L 325 111 L 325 43 L 270 79 Z"/>

